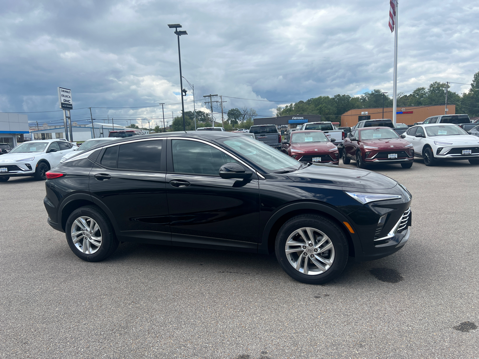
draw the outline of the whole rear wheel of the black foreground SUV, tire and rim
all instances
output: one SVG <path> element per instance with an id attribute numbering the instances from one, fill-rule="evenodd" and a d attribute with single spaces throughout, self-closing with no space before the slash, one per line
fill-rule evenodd
<path id="1" fill-rule="evenodd" d="M 109 257 L 119 244 L 108 217 L 96 206 L 80 207 L 71 213 L 65 233 L 73 253 L 89 262 Z"/>

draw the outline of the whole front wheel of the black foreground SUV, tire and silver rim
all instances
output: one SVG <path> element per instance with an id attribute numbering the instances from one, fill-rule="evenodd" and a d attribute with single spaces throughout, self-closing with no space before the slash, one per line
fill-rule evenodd
<path id="1" fill-rule="evenodd" d="M 293 279 L 323 284 L 338 277 L 348 261 L 348 241 L 342 230 L 317 214 L 300 214 L 280 228 L 276 258 Z"/>

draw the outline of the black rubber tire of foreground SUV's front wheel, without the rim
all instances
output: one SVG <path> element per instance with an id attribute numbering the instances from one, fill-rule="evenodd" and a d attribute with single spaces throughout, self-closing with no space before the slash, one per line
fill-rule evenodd
<path id="1" fill-rule="evenodd" d="M 286 249 L 285 249 L 286 241 L 295 231 L 304 227 L 314 228 L 315 230 L 321 231 L 325 236 L 329 237 L 327 241 L 330 241 L 332 243 L 333 251 L 331 251 L 330 249 L 330 256 L 334 255 L 334 258 L 332 259 L 332 264 L 329 268 L 327 268 L 322 273 L 320 272 L 318 274 L 304 273 L 304 261 L 306 258 L 311 256 L 311 254 L 309 254 L 305 258 L 303 258 L 303 255 L 304 253 L 306 253 L 306 251 L 304 251 L 304 253 L 295 252 L 290 255 L 290 257 L 296 256 L 297 260 L 299 260 L 299 258 L 303 258 L 302 259 L 303 272 L 298 271 L 296 268 L 294 268 L 292 262 L 290 262 L 290 258 L 288 258 L 288 256 L 286 255 Z M 314 243 L 314 246 L 311 248 L 314 248 L 315 246 L 320 244 L 320 241 L 321 241 L 320 238 L 321 237 L 319 236 L 316 237 L 316 243 Z M 324 237 L 322 238 L 324 239 Z M 330 242 L 327 242 L 327 243 L 329 244 Z M 303 248 L 303 246 L 299 246 L 299 247 Z M 324 247 L 324 246 L 321 246 L 321 247 Z M 307 248 L 307 249 L 310 249 L 310 248 Z M 280 228 L 278 235 L 276 236 L 275 252 L 276 252 L 276 258 L 278 259 L 279 264 L 281 265 L 281 267 L 283 267 L 285 272 L 291 278 L 303 283 L 308 283 L 308 284 L 324 284 L 337 278 L 343 271 L 348 261 L 349 246 L 348 246 L 348 241 L 346 239 L 346 236 L 344 235 L 344 232 L 335 223 L 331 222 L 329 219 L 324 218 L 317 214 L 300 214 L 286 221 L 286 223 L 283 224 L 283 226 Z M 319 256 L 316 255 L 314 257 L 315 257 L 314 259 L 317 262 L 319 262 L 318 260 Z M 308 258 L 308 261 L 311 261 L 311 260 Z M 311 264 L 311 268 L 309 268 L 309 264 L 308 264 L 308 269 L 320 270 L 319 267 L 315 266 L 314 264 Z M 301 270 L 301 268 L 299 270 Z"/>

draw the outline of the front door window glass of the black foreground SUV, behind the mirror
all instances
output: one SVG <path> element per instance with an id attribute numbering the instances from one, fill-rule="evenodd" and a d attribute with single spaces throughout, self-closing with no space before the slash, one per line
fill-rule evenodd
<path id="1" fill-rule="evenodd" d="M 201 142 L 172 140 L 174 171 L 219 176 L 219 168 L 228 162 L 236 162 L 222 151 Z"/>

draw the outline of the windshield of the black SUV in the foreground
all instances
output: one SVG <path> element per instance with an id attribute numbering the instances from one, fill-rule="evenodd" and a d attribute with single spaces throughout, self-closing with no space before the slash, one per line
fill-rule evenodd
<path id="1" fill-rule="evenodd" d="M 297 170 L 301 166 L 296 159 L 246 136 L 227 137 L 219 141 L 269 173 Z"/>

